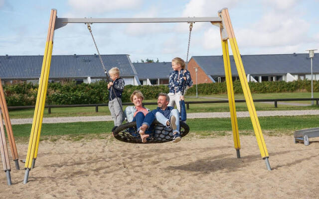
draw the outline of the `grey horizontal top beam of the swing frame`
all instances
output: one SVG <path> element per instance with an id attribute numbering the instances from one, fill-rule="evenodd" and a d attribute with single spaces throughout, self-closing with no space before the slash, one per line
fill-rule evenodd
<path id="1" fill-rule="evenodd" d="M 219 17 L 176 18 L 56 18 L 55 29 L 67 23 L 173 23 L 173 22 L 221 22 Z"/>

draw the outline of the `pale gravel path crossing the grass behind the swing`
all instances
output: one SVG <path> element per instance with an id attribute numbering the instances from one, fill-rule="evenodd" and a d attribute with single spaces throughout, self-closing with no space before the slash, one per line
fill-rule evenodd
<path id="1" fill-rule="evenodd" d="M 258 116 L 276 115 L 319 115 L 319 110 L 272 110 L 257 111 Z M 225 118 L 230 117 L 229 112 L 197 112 L 187 113 L 187 118 Z M 238 111 L 237 117 L 249 117 L 248 111 Z M 11 119 L 11 124 L 32 123 L 33 118 Z M 112 121 L 111 115 L 83 116 L 83 117 L 44 117 L 42 123 L 67 123 L 67 122 L 86 122 L 86 121 Z"/>

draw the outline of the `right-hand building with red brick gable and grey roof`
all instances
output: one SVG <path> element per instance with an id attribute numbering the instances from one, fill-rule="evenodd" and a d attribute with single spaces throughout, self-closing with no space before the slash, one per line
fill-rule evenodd
<path id="1" fill-rule="evenodd" d="M 311 60 L 308 53 L 276 55 L 241 55 L 247 81 L 311 80 Z M 230 56 L 233 80 L 239 79 L 233 56 Z M 194 84 L 225 81 L 223 56 L 192 56 L 188 70 Z M 319 80 L 319 62 L 313 58 L 313 80 Z"/>

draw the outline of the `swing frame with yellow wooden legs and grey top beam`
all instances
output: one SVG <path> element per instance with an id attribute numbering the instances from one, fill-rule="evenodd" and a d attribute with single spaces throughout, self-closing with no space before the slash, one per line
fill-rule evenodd
<path id="1" fill-rule="evenodd" d="M 255 105 L 251 96 L 251 92 L 247 83 L 247 78 L 244 70 L 244 66 L 241 60 L 239 49 L 237 46 L 237 41 L 235 38 L 234 30 L 230 21 L 229 13 L 227 8 L 223 8 L 218 11 L 218 17 L 181 17 L 181 18 L 58 18 L 56 9 L 51 10 L 48 35 L 45 45 L 45 51 L 42 62 L 42 70 L 39 81 L 39 89 L 37 100 L 35 104 L 33 123 L 30 133 L 29 146 L 27 151 L 27 156 L 25 160 L 25 175 L 23 183 L 27 183 L 29 171 L 34 167 L 34 163 L 37 157 L 39 138 L 41 132 L 43 111 L 45 105 L 45 97 L 47 90 L 47 83 L 49 77 L 50 63 L 52 57 L 53 48 L 53 35 L 54 30 L 61 28 L 68 23 L 161 23 L 161 22 L 210 22 L 213 25 L 220 28 L 221 43 L 223 49 L 223 59 L 226 74 L 226 84 L 227 93 L 229 100 L 229 107 L 231 113 L 231 123 L 233 130 L 234 146 L 237 153 L 237 158 L 240 158 L 240 140 L 238 133 L 238 123 L 236 117 L 236 108 L 234 101 L 234 91 L 232 85 L 230 59 L 229 59 L 229 49 L 228 40 L 233 52 L 233 57 L 235 60 L 236 68 L 239 74 L 239 79 L 244 92 L 244 97 L 248 107 L 248 111 L 251 117 L 253 128 L 255 131 L 257 143 L 261 153 L 262 159 L 265 160 L 267 169 L 270 171 L 271 167 L 268 161 L 269 155 L 266 148 L 266 143 L 262 134 L 260 123 L 257 117 Z M 187 61 L 187 60 L 186 60 Z"/>

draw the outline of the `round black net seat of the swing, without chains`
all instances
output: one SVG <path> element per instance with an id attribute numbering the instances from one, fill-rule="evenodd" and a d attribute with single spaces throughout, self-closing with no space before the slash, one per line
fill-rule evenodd
<path id="1" fill-rule="evenodd" d="M 139 132 L 137 132 L 135 121 L 120 125 L 114 130 L 113 135 L 117 140 L 120 140 L 122 142 L 129 142 L 129 143 L 151 144 L 151 143 L 163 143 L 163 142 L 172 141 L 173 132 L 171 128 L 163 126 L 157 120 L 155 120 L 152 125 L 153 125 L 152 132 L 149 132 L 149 133 L 146 132 L 146 134 L 150 135 L 147 138 L 146 143 L 142 142 L 141 136 Z M 180 121 L 179 131 L 180 131 L 180 136 L 183 137 L 189 132 L 189 126 L 186 123 Z"/>

